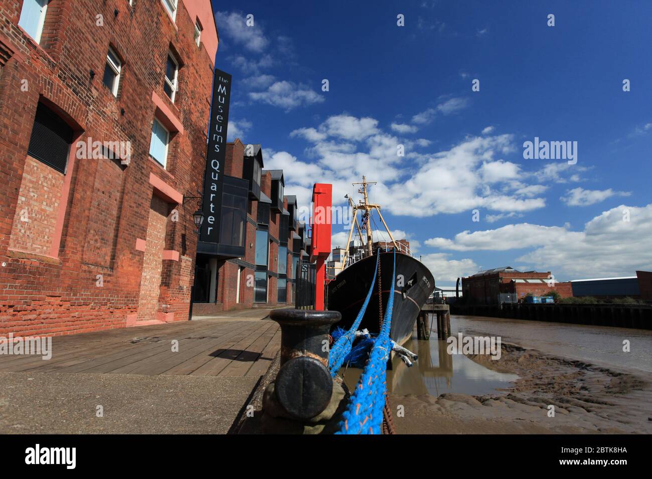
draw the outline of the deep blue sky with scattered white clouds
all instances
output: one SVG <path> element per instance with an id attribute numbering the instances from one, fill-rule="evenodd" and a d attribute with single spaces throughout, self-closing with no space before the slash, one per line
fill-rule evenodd
<path id="1" fill-rule="evenodd" d="M 300 204 L 314 182 L 343 202 L 378 181 L 372 200 L 440 285 L 505 265 L 652 269 L 651 2 L 213 5 L 230 139 L 261 143 Z M 576 141 L 576 164 L 525 159 L 535 137 Z"/>

